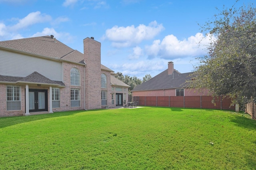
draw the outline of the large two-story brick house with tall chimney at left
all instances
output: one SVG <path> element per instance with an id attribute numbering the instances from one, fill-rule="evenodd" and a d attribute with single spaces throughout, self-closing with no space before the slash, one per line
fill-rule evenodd
<path id="1" fill-rule="evenodd" d="M 101 44 L 84 54 L 54 36 L 0 41 L 0 116 L 122 106 L 128 86 L 101 64 Z"/>

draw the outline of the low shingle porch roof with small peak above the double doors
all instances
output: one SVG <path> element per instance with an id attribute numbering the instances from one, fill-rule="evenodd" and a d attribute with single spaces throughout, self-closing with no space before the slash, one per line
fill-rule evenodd
<path id="1" fill-rule="evenodd" d="M 52 86 L 65 86 L 61 81 L 53 81 L 49 78 L 39 74 L 38 72 L 33 72 L 26 77 L 13 77 L 13 76 L 2 76 L 0 75 L 0 82 L 12 82 L 12 83 L 33 83 L 33 84 L 45 84 Z"/>

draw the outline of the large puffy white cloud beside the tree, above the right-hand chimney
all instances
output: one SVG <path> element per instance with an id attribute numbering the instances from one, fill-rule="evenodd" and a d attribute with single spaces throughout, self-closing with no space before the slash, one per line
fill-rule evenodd
<path id="1" fill-rule="evenodd" d="M 155 40 L 152 45 L 146 46 L 145 51 L 150 58 L 194 57 L 205 55 L 204 46 L 208 45 L 210 41 L 210 36 L 204 36 L 202 33 L 196 33 L 195 36 L 190 36 L 188 39 L 183 40 L 178 40 L 174 35 L 167 35 L 162 42 Z"/>

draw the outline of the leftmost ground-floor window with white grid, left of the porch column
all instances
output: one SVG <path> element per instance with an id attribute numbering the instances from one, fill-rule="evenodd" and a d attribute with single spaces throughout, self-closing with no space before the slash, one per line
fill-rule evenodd
<path id="1" fill-rule="evenodd" d="M 20 86 L 7 85 L 7 110 L 20 110 Z"/>

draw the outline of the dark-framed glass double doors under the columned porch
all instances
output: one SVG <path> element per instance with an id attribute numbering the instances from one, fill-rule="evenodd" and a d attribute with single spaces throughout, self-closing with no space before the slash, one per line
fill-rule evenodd
<path id="1" fill-rule="evenodd" d="M 29 112 L 48 111 L 47 90 L 29 90 Z"/>

